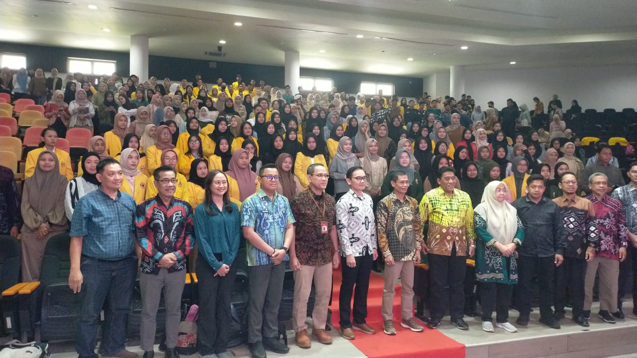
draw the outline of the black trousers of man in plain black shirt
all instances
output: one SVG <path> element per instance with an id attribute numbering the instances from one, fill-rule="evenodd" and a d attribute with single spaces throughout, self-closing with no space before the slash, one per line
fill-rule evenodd
<path id="1" fill-rule="evenodd" d="M 555 271 L 555 257 L 532 257 L 520 255 L 518 263 L 517 301 L 520 316 L 529 317 L 531 313 L 531 280 L 533 275 L 538 277 L 540 287 L 540 316 L 552 317 L 553 310 L 553 275 Z"/>

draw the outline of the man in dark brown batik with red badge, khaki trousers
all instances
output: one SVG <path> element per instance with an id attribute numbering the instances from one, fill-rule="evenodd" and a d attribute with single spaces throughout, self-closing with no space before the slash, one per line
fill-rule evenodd
<path id="1" fill-rule="evenodd" d="M 294 306 L 292 325 L 296 344 L 310 348 L 307 317 L 308 297 L 314 282 L 316 299 L 312 311 L 312 336 L 320 343 L 332 343 L 325 331 L 327 306 L 332 293 L 332 269 L 338 268 L 338 236 L 336 234 L 336 202 L 324 192 L 329 174 L 323 164 L 308 166 L 310 186 L 290 201 L 296 219 L 295 236 L 290 247 L 290 268 L 294 270 Z"/>

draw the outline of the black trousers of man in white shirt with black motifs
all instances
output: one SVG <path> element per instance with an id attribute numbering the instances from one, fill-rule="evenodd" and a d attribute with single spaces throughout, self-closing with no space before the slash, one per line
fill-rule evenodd
<path id="1" fill-rule="evenodd" d="M 367 318 L 367 292 L 369 289 L 369 275 L 371 274 L 371 262 L 373 256 L 368 252 L 362 256 L 354 257 L 356 266 L 350 268 L 345 262 L 345 257 L 341 257 L 343 270 L 343 280 L 341 282 L 341 292 L 338 294 L 338 310 L 340 313 L 340 326 L 352 327 L 350 315 L 354 315 L 354 322 L 366 323 Z M 354 285 L 356 286 L 354 288 Z M 352 303 L 352 291 L 354 291 L 354 306 Z"/>

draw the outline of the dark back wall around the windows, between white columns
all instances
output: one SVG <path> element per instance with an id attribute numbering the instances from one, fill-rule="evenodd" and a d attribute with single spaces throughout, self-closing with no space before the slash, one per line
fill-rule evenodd
<path id="1" fill-rule="evenodd" d="M 129 54 L 127 52 L 110 52 L 101 50 L 83 50 L 80 48 L 48 47 L 38 45 L 23 45 L 19 43 L 0 42 L 0 52 L 18 52 L 27 55 L 27 67 L 42 68 L 50 71 L 57 68 L 66 73 L 67 57 L 85 57 L 117 61 L 117 73 L 124 77 L 129 75 Z M 215 62 L 216 68 L 210 68 L 210 62 Z M 243 76 L 244 81 L 254 78 L 282 86 L 283 66 L 264 66 L 257 64 L 241 64 L 234 62 L 210 60 L 180 59 L 150 55 L 148 58 L 148 73 L 157 78 L 169 77 L 173 81 L 187 78 L 194 79 L 195 73 L 201 73 L 204 80 L 213 83 L 218 77 L 225 81 L 234 81 L 237 74 Z M 356 93 L 362 81 L 394 83 L 396 93 L 400 96 L 416 96 L 422 94 L 422 78 L 377 75 L 374 73 L 352 73 L 343 71 L 329 71 L 324 69 L 301 68 L 301 76 L 326 77 L 334 80 L 334 85 L 340 91 Z"/>

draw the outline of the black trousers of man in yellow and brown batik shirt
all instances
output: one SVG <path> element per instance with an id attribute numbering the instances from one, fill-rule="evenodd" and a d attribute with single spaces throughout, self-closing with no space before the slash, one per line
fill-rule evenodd
<path id="1" fill-rule="evenodd" d="M 451 255 L 429 254 L 429 282 L 431 284 L 431 318 L 442 319 L 447 302 L 451 320 L 464 317 L 464 275 L 466 256 L 458 256 L 455 246 Z M 448 287 L 448 289 L 447 289 Z"/>

